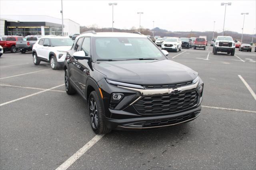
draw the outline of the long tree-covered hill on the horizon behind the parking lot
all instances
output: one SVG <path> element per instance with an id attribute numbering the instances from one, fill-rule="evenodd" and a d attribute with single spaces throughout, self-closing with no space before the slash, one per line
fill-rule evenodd
<path id="1" fill-rule="evenodd" d="M 94 30 L 96 32 L 112 32 L 112 28 L 97 28 L 96 26 L 94 27 L 86 27 L 86 26 L 80 26 L 80 33 L 89 31 L 89 30 Z M 138 29 L 117 29 L 114 28 L 114 32 L 128 32 L 128 31 L 138 31 Z M 199 36 L 207 36 L 208 42 L 212 40 L 212 32 L 207 31 L 207 32 L 172 32 L 168 30 L 163 30 L 158 27 L 149 30 L 149 29 L 140 29 L 141 34 L 144 35 L 150 35 L 153 36 L 152 31 L 154 31 L 154 36 L 161 36 L 161 37 L 199 37 Z M 231 36 L 234 40 L 241 40 L 242 34 L 238 32 L 232 32 L 232 31 L 225 31 L 225 36 Z M 217 36 L 222 36 L 222 32 L 214 32 L 214 38 Z M 243 35 L 243 42 L 244 43 L 250 43 L 252 42 L 252 34 L 244 34 Z M 254 40 L 253 43 L 256 43 L 256 34 L 254 34 Z"/>

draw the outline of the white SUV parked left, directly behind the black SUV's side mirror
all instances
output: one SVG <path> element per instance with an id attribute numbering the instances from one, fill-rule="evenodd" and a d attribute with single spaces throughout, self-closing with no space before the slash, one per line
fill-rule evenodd
<path id="1" fill-rule="evenodd" d="M 40 61 L 50 63 L 52 69 L 64 66 L 66 51 L 73 45 L 73 40 L 69 37 L 42 37 L 33 46 L 33 62 L 35 65 Z"/>

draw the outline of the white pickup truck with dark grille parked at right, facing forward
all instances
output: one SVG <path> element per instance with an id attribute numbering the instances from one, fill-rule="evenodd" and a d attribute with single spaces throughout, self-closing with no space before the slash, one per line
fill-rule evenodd
<path id="1" fill-rule="evenodd" d="M 230 55 L 235 55 L 235 42 L 232 37 L 230 36 L 218 36 L 213 48 L 212 52 L 214 55 L 217 54 L 217 52 L 225 52 Z"/>

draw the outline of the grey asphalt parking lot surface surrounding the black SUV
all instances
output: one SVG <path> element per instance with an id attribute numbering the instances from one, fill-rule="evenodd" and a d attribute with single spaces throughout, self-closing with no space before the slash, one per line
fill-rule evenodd
<path id="1" fill-rule="evenodd" d="M 112 131 L 68 169 L 256 169 L 256 53 L 213 55 L 207 46 L 168 58 L 204 81 L 201 115 L 162 130 Z M 85 101 L 65 92 L 63 70 L 34 65 L 31 52 L 2 55 L 1 169 L 56 169 L 95 136 Z"/>

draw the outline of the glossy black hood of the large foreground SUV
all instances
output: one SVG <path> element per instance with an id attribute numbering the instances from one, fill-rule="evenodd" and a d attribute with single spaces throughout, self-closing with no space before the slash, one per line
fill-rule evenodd
<path id="1" fill-rule="evenodd" d="M 168 59 L 104 61 L 94 68 L 108 79 L 139 85 L 192 81 L 198 75 L 189 67 Z"/>

